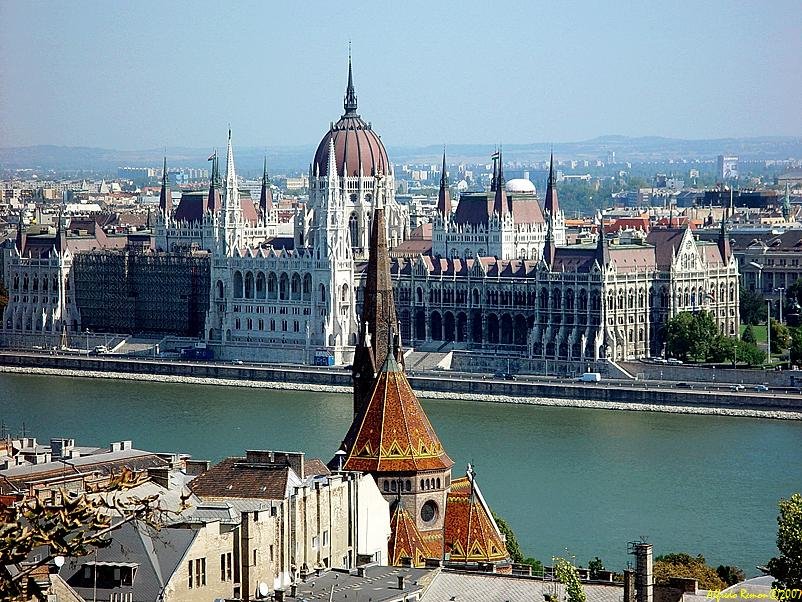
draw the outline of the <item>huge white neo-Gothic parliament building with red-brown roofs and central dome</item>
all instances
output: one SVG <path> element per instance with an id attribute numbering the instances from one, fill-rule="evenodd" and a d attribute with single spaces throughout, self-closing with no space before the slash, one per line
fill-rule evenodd
<path id="1" fill-rule="evenodd" d="M 229 132 L 224 174 L 215 158 L 208 192 L 184 193 L 173 207 L 165 176 L 139 246 L 81 248 L 61 218 L 55 237 L 20 224 L 3 247 L 0 340 L 157 332 L 196 337 L 220 359 L 309 363 L 325 353 L 349 364 L 376 207 L 407 349 L 576 371 L 662 355 L 679 312 L 706 310 L 721 332 L 739 332 L 738 264 L 724 222 L 717 241 L 671 223 L 608 237 L 598 224 L 595 242 L 569 245 L 553 171 L 541 199 L 505 180 L 500 155 L 490 190 L 463 192 L 456 207 L 444 155 L 430 240 L 414 236 L 385 146 L 357 112 L 350 63 L 344 112 L 308 178 L 292 236 L 279 236 L 267 173 L 258 200 L 240 190 Z"/>

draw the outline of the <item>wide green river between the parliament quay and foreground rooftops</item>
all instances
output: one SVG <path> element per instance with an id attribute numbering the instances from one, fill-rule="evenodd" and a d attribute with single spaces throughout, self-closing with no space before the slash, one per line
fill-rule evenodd
<path id="1" fill-rule="evenodd" d="M 424 400 L 454 474 L 482 491 L 524 552 L 621 570 L 627 542 L 747 575 L 776 553 L 777 501 L 802 490 L 802 422 Z M 245 449 L 328 460 L 350 396 L 0 374 L 0 419 L 80 445 L 131 439 L 219 460 Z M 568 550 L 566 552 L 566 549 Z"/>

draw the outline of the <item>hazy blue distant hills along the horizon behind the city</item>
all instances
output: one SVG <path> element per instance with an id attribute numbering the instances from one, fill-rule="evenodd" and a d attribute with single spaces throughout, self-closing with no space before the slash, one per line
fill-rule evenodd
<path id="1" fill-rule="evenodd" d="M 542 161 L 552 148 L 546 142 L 505 144 L 505 161 Z M 560 142 L 553 145 L 560 158 L 607 160 L 615 152 L 621 161 L 665 161 L 668 159 L 714 160 L 719 154 L 734 154 L 745 160 L 802 158 L 802 138 L 756 137 L 720 138 L 712 140 L 683 140 L 659 136 L 608 135 L 580 142 Z M 440 145 L 392 146 L 388 153 L 395 163 L 438 163 L 443 148 Z M 448 148 L 449 162 L 488 162 L 493 144 L 452 144 Z M 271 173 L 305 172 L 315 151 L 313 146 L 272 147 L 267 150 L 268 170 Z M 116 173 L 120 166 L 157 166 L 161 164 L 162 149 L 124 151 L 88 147 L 26 146 L 0 148 L 0 170 L 86 170 Z M 170 148 L 168 164 L 181 167 L 207 166 L 208 148 Z M 221 154 L 225 149 L 219 149 Z M 238 171 L 244 175 L 261 173 L 264 149 L 237 147 Z"/>

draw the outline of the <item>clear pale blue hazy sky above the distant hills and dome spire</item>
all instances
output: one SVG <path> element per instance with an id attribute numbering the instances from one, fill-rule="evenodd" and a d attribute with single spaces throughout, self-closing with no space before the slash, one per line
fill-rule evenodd
<path id="1" fill-rule="evenodd" d="M 802 135 L 802 2 L 0 0 L 0 146 Z"/>

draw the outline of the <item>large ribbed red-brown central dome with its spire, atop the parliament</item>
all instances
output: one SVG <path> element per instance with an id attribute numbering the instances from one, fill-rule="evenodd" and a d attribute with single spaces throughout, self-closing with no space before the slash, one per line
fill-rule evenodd
<path id="1" fill-rule="evenodd" d="M 326 176 L 329 171 L 329 141 L 334 141 L 334 158 L 340 176 L 375 176 L 390 173 L 390 161 L 381 137 L 357 114 L 356 92 L 348 59 L 348 87 L 343 103 L 345 113 L 331 126 L 317 147 L 312 174 Z"/>

